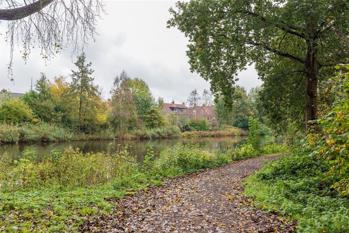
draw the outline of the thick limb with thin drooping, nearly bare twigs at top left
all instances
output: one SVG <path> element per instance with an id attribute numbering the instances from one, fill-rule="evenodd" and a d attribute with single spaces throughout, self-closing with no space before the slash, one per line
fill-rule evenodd
<path id="1" fill-rule="evenodd" d="M 44 59 L 50 59 L 63 47 L 71 45 L 73 51 L 79 51 L 79 45 L 83 48 L 89 38 L 95 40 L 103 8 L 101 0 L 0 0 L 0 20 L 7 21 L 10 74 L 15 47 L 23 48 L 25 61 L 34 46 Z M 21 46 L 15 46 L 19 43 Z"/>

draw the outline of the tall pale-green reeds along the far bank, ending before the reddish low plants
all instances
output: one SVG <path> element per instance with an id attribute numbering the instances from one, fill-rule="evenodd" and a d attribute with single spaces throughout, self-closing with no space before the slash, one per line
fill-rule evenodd
<path id="1" fill-rule="evenodd" d="M 127 132 L 123 138 L 173 138 L 178 137 L 180 131 L 176 126 L 155 129 L 143 129 Z M 39 123 L 23 123 L 17 125 L 0 123 L 0 143 L 40 142 L 40 141 L 76 141 L 76 140 L 104 140 L 118 138 L 119 133 L 111 129 L 100 130 L 97 133 L 79 133 L 61 125 Z"/>

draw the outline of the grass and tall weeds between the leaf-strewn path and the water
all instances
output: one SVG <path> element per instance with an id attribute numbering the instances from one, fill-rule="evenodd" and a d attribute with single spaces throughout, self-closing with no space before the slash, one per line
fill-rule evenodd
<path id="1" fill-rule="evenodd" d="M 127 149 L 114 154 L 53 151 L 42 162 L 0 157 L 0 231 L 75 232 L 86 216 L 107 213 L 113 203 L 163 179 L 259 156 L 249 145 L 224 152 L 199 144 L 178 145 L 142 165 Z"/>

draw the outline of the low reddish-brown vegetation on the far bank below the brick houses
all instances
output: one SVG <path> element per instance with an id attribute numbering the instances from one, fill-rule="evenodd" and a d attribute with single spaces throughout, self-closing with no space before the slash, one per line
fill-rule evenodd
<path id="1" fill-rule="evenodd" d="M 217 131 L 187 131 L 182 133 L 183 137 L 195 138 L 195 137 L 221 137 L 221 136 L 240 136 L 247 135 L 246 131 L 239 128 L 231 128 L 229 130 L 217 130 Z"/>

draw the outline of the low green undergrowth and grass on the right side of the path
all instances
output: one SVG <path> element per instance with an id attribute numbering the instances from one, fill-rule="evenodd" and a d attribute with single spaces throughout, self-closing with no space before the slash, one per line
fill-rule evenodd
<path id="1" fill-rule="evenodd" d="M 270 162 L 246 181 L 245 193 L 268 211 L 299 221 L 298 231 L 348 233 L 349 200 L 333 188 L 329 166 L 302 151 Z"/>

